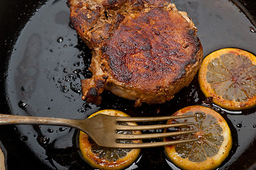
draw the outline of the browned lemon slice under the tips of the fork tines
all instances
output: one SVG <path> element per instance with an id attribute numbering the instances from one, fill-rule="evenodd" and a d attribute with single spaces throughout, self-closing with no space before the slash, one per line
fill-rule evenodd
<path id="1" fill-rule="evenodd" d="M 226 120 L 211 108 L 189 106 L 174 115 L 196 115 L 195 118 L 168 120 L 170 123 L 194 122 L 195 125 L 177 128 L 179 131 L 197 130 L 192 135 L 166 137 L 164 140 L 198 139 L 165 147 L 167 157 L 182 169 L 216 169 L 232 147 L 231 132 Z M 165 130 L 167 132 L 168 129 Z"/>

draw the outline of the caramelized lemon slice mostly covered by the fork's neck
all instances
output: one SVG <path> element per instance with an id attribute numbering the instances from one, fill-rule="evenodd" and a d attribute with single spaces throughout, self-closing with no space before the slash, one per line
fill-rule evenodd
<path id="1" fill-rule="evenodd" d="M 96 114 L 103 113 L 107 115 L 115 116 L 125 116 L 128 117 L 126 113 L 116 110 L 103 110 L 98 111 L 89 118 L 93 117 Z M 129 125 L 137 125 L 136 123 L 127 123 Z M 120 131 L 120 133 L 125 133 Z M 139 131 L 131 132 L 133 134 L 140 133 Z M 140 140 L 126 141 L 121 142 L 140 142 Z M 140 154 L 140 149 L 116 149 L 116 148 L 107 148 L 99 147 L 96 145 L 89 136 L 80 131 L 79 132 L 79 149 L 82 153 L 82 157 L 87 161 L 92 167 L 96 169 L 124 169 L 133 162 Z"/>

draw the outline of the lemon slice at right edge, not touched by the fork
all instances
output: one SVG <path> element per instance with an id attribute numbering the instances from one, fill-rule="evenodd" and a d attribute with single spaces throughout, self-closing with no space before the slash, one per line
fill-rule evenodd
<path id="1" fill-rule="evenodd" d="M 226 48 L 204 58 L 199 85 L 213 103 L 230 110 L 256 104 L 256 57 L 250 52 Z"/>

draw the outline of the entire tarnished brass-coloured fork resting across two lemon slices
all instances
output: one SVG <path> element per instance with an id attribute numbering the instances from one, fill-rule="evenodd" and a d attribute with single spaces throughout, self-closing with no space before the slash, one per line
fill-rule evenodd
<path id="1" fill-rule="evenodd" d="M 175 123 L 165 125 L 118 125 L 120 122 L 151 122 L 162 121 L 169 119 L 191 118 L 194 115 L 177 115 L 177 116 L 162 116 L 162 117 L 119 117 L 104 114 L 97 114 L 89 119 L 65 119 L 65 118 L 45 118 L 21 115 L 6 115 L 0 114 L 0 125 L 57 125 L 76 128 L 86 132 L 97 145 L 101 147 L 115 148 L 142 148 L 142 147 L 160 147 L 165 145 L 177 145 L 183 142 L 192 142 L 193 140 L 179 140 L 167 142 L 145 142 L 145 143 L 120 143 L 118 140 L 143 140 L 158 137 L 169 137 L 174 135 L 187 135 L 196 130 L 183 132 L 162 132 L 151 134 L 119 134 L 118 130 L 137 131 L 137 130 L 153 130 L 164 129 L 179 126 L 193 125 L 194 123 Z"/>

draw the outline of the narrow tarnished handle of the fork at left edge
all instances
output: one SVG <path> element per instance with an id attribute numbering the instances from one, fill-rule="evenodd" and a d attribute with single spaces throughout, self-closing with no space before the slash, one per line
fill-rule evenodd
<path id="1" fill-rule="evenodd" d="M 23 115 L 6 115 L 0 113 L 0 125 L 58 125 L 77 128 L 74 124 L 76 120 L 65 118 L 45 118 Z"/>

